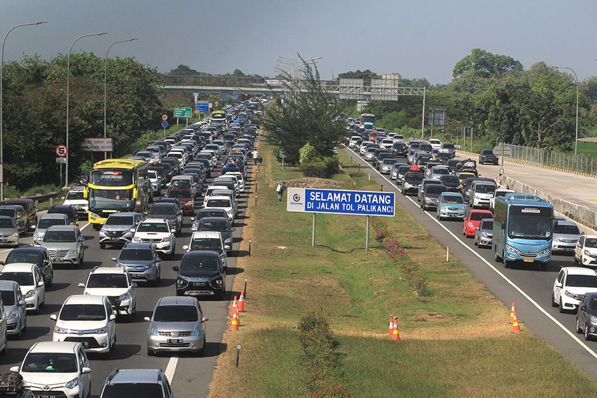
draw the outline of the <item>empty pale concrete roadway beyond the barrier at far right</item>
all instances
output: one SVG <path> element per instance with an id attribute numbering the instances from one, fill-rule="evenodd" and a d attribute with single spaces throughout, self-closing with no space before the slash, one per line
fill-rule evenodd
<path id="1" fill-rule="evenodd" d="M 456 159 L 469 157 L 479 161 L 478 156 L 461 152 L 457 152 Z M 477 165 L 477 169 L 483 177 L 496 178 L 500 168 L 494 165 Z M 504 162 L 504 174 L 568 202 L 597 211 L 597 180 L 593 177 L 507 161 Z"/>

